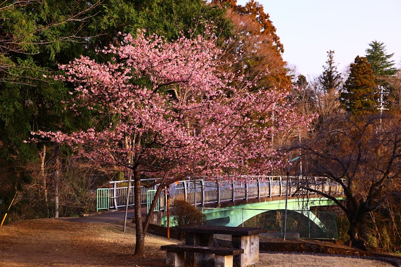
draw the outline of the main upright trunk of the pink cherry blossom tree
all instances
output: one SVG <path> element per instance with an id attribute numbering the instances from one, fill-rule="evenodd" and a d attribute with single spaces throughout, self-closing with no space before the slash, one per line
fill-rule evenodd
<path id="1" fill-rule="evenodd" d="M 135 256 L 142 256 L 145 251 L 145 234 L 141 213 L 141 179 L 138 170 L 134 170 L 134 212 L 135 212 Z"/>

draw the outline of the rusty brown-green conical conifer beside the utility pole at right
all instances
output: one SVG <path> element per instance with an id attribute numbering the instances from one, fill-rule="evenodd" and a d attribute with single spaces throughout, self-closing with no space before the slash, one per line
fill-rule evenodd
<path id="1" fill-rule="evenodd" d="M 364 57 L 357 56 L 350 65 L 350 74 L 341 94 L 341 102 L 347 111 L 361 116 L 374 108 L 374 74 L 369 62 Z"/>

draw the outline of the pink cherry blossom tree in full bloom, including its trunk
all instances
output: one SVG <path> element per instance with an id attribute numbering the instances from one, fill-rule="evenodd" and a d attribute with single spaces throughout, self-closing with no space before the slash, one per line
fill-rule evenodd
<path id="1" fill-rule="evenodd" d="M 220 71 L 227 62 L 213 38 L 168 43 L 139 31 L 99 54 L 112 60 L 98 64 L 81 57 L 62 65 L 65 76 L 57 77 L 75 85 L 68 104 L 77 116 L 95 114 L 96 127 L 34 134 L 133 173 L 135 255 L 143 254 L 151 212 L 165 186 L 188 175 L 270 172 L 283 165 L 272 137 L 297 134 L 310 121 L 294 112 L 281 90 L 257 90 L 255 81 Z M 141 177 L 162 177 L 143 225 Z"/>

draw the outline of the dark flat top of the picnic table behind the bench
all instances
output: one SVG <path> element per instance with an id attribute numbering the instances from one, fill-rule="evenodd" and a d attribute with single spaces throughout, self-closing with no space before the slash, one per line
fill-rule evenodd
<path id="1" fill-rule="evenodd" d="M 185 233 L 206 233 L 206 234 L 231 234 L 231 235 L 254 235 L 263 233 L 262 228 L 253 227 L 230 227 L 230 226 L 176 226 L 174 227 L 180 232 Z"/>

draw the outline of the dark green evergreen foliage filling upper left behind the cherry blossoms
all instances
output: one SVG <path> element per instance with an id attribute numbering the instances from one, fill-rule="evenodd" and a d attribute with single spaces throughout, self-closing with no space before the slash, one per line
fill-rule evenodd
<path id="1" fill-rule="evenodd" d="M 62 112 L 72 88 L 50 78 L 59 73 L 58 64 L 80 55 L 109 60 L 95 51 L 120 44 L 119 32 L 135 34 L 138 28 L 148 28 L 149 34 L 172 40 L 180 32 L 204 33 L 208 23 L 216 26 L 212 27 L 216 35 L 231 35 L 225 11 L 202 0 L 0 3 L 0 162 L 3 181 L 9 183 L 5 187 L 14 188 L 9 194 L 14 196 L 16 186 L 21 189 L 22 183 L 34 178 L 25 169 L 38 158 L 42 144 L 24 143 L 30 131 L 72 130 L 96 123 L 91 111 L 83 116 Z M 0 200 L 3 197 L 8 196 L 0 194 Z"/>

